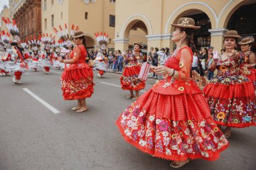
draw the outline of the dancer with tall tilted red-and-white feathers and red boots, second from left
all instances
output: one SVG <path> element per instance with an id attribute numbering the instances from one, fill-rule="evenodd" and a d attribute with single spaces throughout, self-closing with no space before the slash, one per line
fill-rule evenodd
<path id="1" fill-rule="evenodd" d="M 2 17 L 3 22 L 5 22 L 11 36 L 13 36 L 13 42 L 11 42 L 11 60 L 14 60 L 13 67 L 9 67 L 7 71 L 14 71 L 13 83 L 22 84 L 20 79 L 22 77 L 22 73 L 29 69 L 28 67 L 28 55 L 24 55 L 24 48 L 20 43 L 20 33 L 18 27 L 16 25 L 15 19 L 11 21 L 7 17 L 6 19 Z"/>

